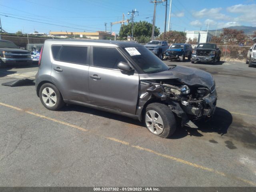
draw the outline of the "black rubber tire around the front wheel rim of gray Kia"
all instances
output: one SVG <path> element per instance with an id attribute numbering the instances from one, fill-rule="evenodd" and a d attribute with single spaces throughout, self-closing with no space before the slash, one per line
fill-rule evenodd
<path id="1" fill-rule="evenodd" d="M 146 107 L 146 111 L 144 114 L 144 122 L 146 125 L 145 121 L 145 116 L 146 112 L 148 110 L 154 110 L 158 112 L 158 114 L 161 116 L 163 123 L 164 123 L 164 131 L 161 134 L 155 134 L 157 136 L 163 137 L 163 138 L 169 138 L 172 134 L 174 134 L 176 130 L 176 119 L 173 114 L 173 112 L 170 110 L 170 108 L 162 103 L 151 103 Z M 152 133 L 149 129 L 148 131 Z M 152 133 L 154 134 L 154 133 Z"/>

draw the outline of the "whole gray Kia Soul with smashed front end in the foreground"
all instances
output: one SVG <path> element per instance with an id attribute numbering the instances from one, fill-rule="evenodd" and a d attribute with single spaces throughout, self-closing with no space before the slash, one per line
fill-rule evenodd
<path id="1" fill-rule="evenodd" d="M 178 122 L 211 117 L 217 94 L 208 72 L 167 66 L 146 47 L 107 40 L 46 40 L 36 92 L 49 110 L 78 104 L 145 122 L 157 136 L 171 136 Z"/>

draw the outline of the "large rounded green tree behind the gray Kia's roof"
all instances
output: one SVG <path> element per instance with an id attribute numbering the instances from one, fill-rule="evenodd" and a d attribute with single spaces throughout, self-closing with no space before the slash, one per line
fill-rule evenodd
<path id="1" fill-rule="evenodd" d="M 128 25 L 123 25 L 120 28 L 119 36 L 127 37 L 132 34 L 132 23 Z M 146 21 L 134 22 L 133 26 L 133 37 L 137 40 L 140 36 L 144 35 L 146 37 L 150 37 L 152 34 L 152 24 Z M 154 28 L 154 36 L 158 36 L 160 34 L 159 28 L 155 26 Z"/>

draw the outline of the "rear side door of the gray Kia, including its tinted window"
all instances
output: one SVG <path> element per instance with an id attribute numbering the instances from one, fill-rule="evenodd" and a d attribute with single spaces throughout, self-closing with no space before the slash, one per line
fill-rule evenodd
<path id="1" fill-rule="evenodd" d="M 88 102 L 89 46 L 52 45 L 52 81 L 65 100 Z"/>

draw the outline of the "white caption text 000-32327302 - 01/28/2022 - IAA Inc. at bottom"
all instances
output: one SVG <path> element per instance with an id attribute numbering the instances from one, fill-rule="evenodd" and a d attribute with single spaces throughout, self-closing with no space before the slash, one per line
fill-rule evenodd
<path id="1" fill-rule="evenodd" d="M 94 191 L 159 191 L 159 188 L 154 187 L 94 187 Z"/>

